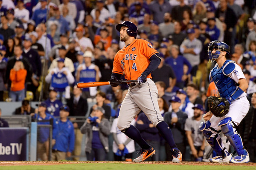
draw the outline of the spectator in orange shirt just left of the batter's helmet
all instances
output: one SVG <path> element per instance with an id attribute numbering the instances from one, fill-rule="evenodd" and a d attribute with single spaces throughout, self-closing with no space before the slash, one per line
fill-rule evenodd
<path id="1" fill-rule="evenodd" d="M 104 49 L 105 51 L 107 51 L 107 49 L 111 45 L 112 37 L 108 32 L 107 28 L 104 26 L 100 28 L 99 34 L 100 35 L 95 35 L 93 42 L 94 44 L 98 44 L 99 41 L 102 41 L 104 43 Z"/>

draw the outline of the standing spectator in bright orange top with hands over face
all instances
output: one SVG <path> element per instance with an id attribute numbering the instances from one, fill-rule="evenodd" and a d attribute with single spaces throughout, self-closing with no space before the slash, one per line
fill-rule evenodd
<path id="1" fill-rule="evenodd" d="M 27 71 L 24 69 L 23 62 L 19 59 L 15 62 L 10 71 L 10 80 L 12 82 L 9 97 L 12 102 L 19 102 L 25 98 L 25 79 Z"/>

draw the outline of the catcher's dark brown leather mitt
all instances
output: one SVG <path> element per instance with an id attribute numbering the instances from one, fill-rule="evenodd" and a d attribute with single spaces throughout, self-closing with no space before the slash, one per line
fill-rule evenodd
<path id="1" fill-rule="evenodd" d="M 215 96 L 209 96 L 207 104 L 209 110 L 216 117 L 225 116 L 228 113 L 230 107 L 230 103 L 227 101 L 226 98 Z"/>

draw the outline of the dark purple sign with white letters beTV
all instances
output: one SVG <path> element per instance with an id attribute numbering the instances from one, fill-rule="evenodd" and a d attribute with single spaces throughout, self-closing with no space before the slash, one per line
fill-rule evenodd
<path id="1" fill-rule="evenodd" d="M 27 128 L 0 128 L 0 161 L 26 161 Z"/>

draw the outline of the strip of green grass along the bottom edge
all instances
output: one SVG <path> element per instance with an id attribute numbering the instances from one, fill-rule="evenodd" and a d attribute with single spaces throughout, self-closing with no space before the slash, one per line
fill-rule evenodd
<path id="1" fill-rule="evenodd" d="M 188 165 L 188 164 L 128 164 L 79 163 L 58 165 L 0 166 L 0 170 L 255 170 L 255 166 Z"/>

